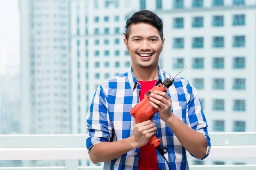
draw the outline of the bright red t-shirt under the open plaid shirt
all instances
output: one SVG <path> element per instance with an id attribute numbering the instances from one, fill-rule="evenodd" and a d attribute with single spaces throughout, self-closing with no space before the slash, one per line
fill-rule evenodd
<path id="1" fill-rule="evenodd" d="M 141 85 L 139 92 L 140 101 L 143 100 L 144 94 L 154 87 L 156 81 L 138 81 Z M 148 143 L 140 147 L 138 170 L 158 170 L 156 149 Z"/>

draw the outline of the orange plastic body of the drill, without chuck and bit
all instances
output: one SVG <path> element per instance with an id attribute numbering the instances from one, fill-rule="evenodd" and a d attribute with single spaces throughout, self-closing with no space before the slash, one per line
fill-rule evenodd
<path id="1" fill-rule="evenodd" d="M 158 112 L 156 108 L 150 105 L 150 100 L 149 98 L 151 97 L 151 93 L 154 93 L 154 91 L 164 91 L 166 92 L 166 88 L 162 85 L 159 84 L 157 86 L 154 86 L 149 90 L 145 95 L 144 99 L 140 101 L 137 105 L 135 105 L 131 111 L 130 114 L 131 116 L 134 117 L 136 123 L 141 123 L 145 122 L 149 119 L 153 119 L 155 113 Z M 148 143 L 151 144 L 153 147 L 158 147 L 160 144 L 161 140 L 157 139 L 157 137 L 154 135 L 149 139 Z"/>

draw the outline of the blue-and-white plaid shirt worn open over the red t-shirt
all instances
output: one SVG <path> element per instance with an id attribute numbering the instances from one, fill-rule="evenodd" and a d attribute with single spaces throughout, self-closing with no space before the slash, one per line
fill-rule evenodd
<path id="1" fill-rule="evenodd" d="M 170 74 L 162 71 L 159 67 L 158 72 L 156 85 L 171 77 Z M 140 101 L 139 91 L 140 83 L 134 77 L 132 68 L 128 72 L 99 85 L 87 114 L 87 130 L 89 133 L 86 140 L 87 150 L 90 150 L 93 145 L 99 142 L 115 142 L 133 135 L 134 117 L 130 115 L 130 110 Z M 207 121 L 196 89 L 186 79 L 176 77 L 173 85 L 167 89 L 167 94 L 172 99 L 172 113 L 186 125 L 206 137 L 207 154 L 204 157 L 206 158 L 209 155 L 211 143 L 207 131 Z M 188 170 L 186 150 L 171 128 L 159 118 L 158 113 L 155 114 L 153 121 L 157 127 L 155 135 L 158 139 L 161 139 L 160 147 L 168 148 L 165 157 L 169 161 L 171 169 Z M 117 159 L 105 162 L 104 169 L 137 170 L 139 155 L 140 148 L 135 148 Z M 165 160 L 158 151 L 157 161 L 159 170 L 168 169 Z"/>

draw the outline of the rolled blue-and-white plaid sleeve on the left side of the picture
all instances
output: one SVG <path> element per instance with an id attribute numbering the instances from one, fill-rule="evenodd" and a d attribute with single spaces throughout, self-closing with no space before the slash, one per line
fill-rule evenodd
<path id="1" fill-rule="evenodd" d="M 113 125 L 109 119 L 107 96 L 102 85 L 99 85 L 93 96 L 86 122 L 88 130 L 87 150 L 99 142 L 111 140 Z"/>

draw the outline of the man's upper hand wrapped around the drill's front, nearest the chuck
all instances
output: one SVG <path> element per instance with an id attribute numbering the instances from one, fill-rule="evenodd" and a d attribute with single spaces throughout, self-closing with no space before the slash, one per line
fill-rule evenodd
<path id="1" fill-rule="evenodd" d="M 159 118 L 167 122 L 172 116 L 171 112 L 171 99 L 167 93 L 163 91 L 154 91 L 151 93 L 150 105 L 159 111 Z"/>

